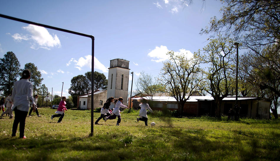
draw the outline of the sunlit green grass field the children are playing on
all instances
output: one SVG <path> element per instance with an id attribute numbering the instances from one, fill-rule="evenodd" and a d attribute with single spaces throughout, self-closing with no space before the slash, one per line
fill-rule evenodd
<path id="1" fill-rule="evenodd" d="M 14 119 L 0 119 L 1 160 L 279 160 L 280 121 L 148 115 L 148 127 L 137 122 L 139 111 L 94 125 L 90 111 L 68 110 L 61 124 L 54 109 L 38 109 L 26 118 L 27 139 L 11 137 Z M 94 121 L 100 113 L 94 113 Z M 160 117 L 156 117 L 160 116 Z M 150 123 L 156 125 L 151 127 Z"/>

